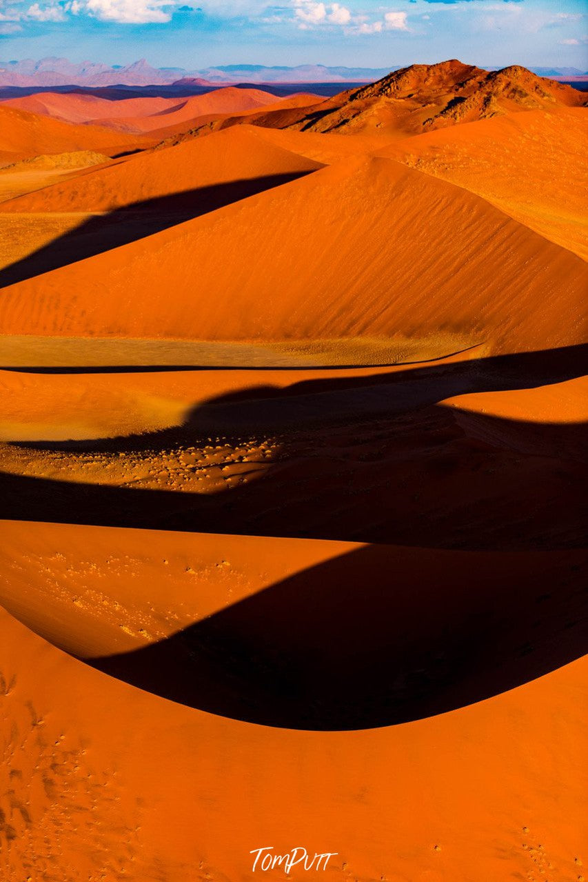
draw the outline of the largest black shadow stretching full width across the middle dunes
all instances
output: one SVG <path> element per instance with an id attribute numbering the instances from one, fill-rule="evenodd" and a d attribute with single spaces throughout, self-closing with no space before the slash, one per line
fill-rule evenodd
<path id="1" fill-rule="evenodd" d="M 126 486 L 4 474 L 0 516 L 445 549 L 582 547 L 586 424 L 470 414 L 439 402 L 580 376 L 585 349 L 257 385 L 205 402 L 168 430 L 12 443 L 56 461 L 92 454 L 101 467 L 129 454 L 135 466 L 125 473 L 121 460 Z M 205 448 L 212 437 L 237 450 L 244 438 L 272 435 L 277 453 L 251 480 L 220 477 L 205 493 L 196 482 L 175 490 L 141 483 L 140 475 L 160 470 L 163 452 L 169 462 L 169 451 Z M 180 460 L 177 468 L 185 469 Z"/>

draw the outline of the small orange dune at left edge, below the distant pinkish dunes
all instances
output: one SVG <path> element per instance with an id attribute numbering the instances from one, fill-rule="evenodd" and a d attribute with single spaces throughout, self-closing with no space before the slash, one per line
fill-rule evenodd
<path id="1" fill-rule="evenodd" d="M 108 131 L 98 126 L 70 125 L 47 116 L 0 105 L 0 158 L 4 164 L 39 156 L 41 153 L 70 153 L 93 150 L 113 156 L 133 147 L 148 146 L 137 136 Z"/>

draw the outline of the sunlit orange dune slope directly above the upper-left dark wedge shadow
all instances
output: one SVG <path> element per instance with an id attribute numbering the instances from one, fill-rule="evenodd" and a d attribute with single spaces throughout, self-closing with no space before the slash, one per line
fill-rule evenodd
<path id="1" fill-rule="evenodd" d="M 2 211 L 106 212 L 173 194 L 196 202 L 196 191 L 205 187 L 272 176 L 281 183 L 316 168 L 321 168 L 318 162 L 257 138 L 255 130 L 240 128 L 130 157 L 95 174 L 4 202 Z"/>

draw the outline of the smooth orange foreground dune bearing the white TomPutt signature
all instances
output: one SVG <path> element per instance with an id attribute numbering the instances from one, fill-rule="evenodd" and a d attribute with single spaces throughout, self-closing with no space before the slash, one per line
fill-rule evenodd
<path id="1" fill-rule="evenodd" d="M 578 874 L 583 662 L 434 719 L 309 733 L 165 701 L 86 667 L 4 611 L 0 623 L 10 728 L 6 717 L 0 727 L 16 770 L 0 804 L 3 833 L 19 843 L 0 856 L 9 878 L 244 880 L 250 848 L 272 842 L 283 854 L 293 836 L 339 850 L 325 878 L 390 875 L 391 854 L 401 878 L 466 878 L 473 866 L 488 878 L 506 867 L 526 876 L 547 863 L 555 882 Z M 287 834 L 276 811 L 285 792 Z"/>

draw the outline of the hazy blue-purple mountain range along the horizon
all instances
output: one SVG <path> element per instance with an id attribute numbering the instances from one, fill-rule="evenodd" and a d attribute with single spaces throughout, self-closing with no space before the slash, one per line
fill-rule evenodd
<path id="1" fill-rule="evenodd" d="M 221 86 L 234 83 L 353 83 L 373 82 L 400 65 L 386 68 L 327 67 L 300 64 L 297 67 L 264 67 L 263 64 L 226 64 L 200 71 L 179 67 L 152 67 L 145 58 L 124 66 L 94 62 L 73 64 L 67 58 L 48 57 L 34 61 L 0 62 L 0 86 L 151 86 L 183 81 L 186 85 Z M 488 70 L 497 70 L 489 68 Z M 531 68 L 541 77 L 588 76 L 574 67 Z"/>

